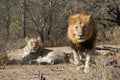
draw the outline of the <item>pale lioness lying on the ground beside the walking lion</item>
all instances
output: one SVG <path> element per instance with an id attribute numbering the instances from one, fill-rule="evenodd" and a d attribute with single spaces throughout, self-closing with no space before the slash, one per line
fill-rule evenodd
<path id="1" fill-rule="evenodd" d="M 59 50 L 45 49 L 40 44 L 41 39 L 25 38 L 27 45 L 24 48 L 23 64 L 55 64 L 67 61 L 67 54 Z"/>

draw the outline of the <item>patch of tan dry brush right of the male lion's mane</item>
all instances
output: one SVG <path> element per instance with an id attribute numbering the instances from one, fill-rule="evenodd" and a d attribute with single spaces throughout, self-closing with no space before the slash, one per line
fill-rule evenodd
<path id="1" fill-rule="evenodd" d="M 98 29 L 97 44 L 112 44 L 119 45 L 120 42 L 120 29 L 118 27 L 114 28 L 101 28 Z"/>

